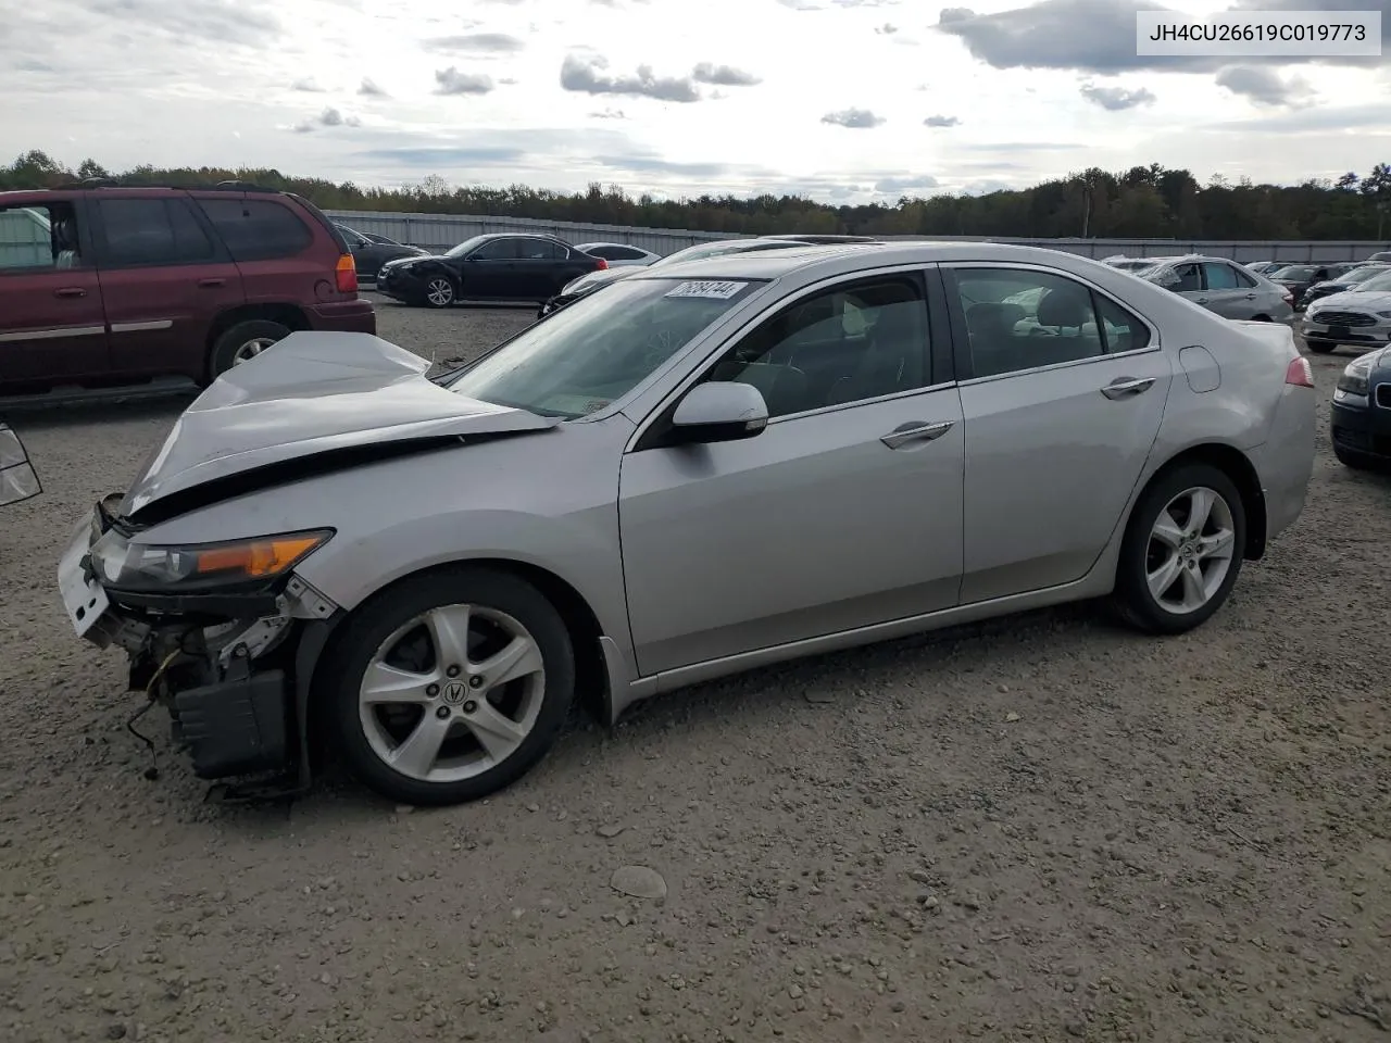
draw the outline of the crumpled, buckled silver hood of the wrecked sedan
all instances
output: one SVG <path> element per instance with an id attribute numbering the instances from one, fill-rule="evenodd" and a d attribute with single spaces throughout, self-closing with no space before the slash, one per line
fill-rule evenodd
<path id="1" fill-rule="evenodd" d="M 559 423 L 455 395 L 427 380 L 428 369 L 428 360 L 370 334 L 294 332 L 224 373 L 184 410 L 142 466 L 120 513 L 319 453 L 540 431 Z"/>

